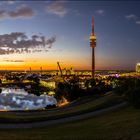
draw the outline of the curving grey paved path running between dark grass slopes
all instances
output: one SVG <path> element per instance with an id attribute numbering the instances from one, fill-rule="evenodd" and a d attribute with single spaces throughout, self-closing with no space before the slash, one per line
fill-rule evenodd
<path id="1" fill-rule="evenodd" d="M 85 114 L 75 115 L 75 116 L 66 117 L 66 118 L 59 118 L 59 119 L 55 119 L 55 120 L 42 121 L 42 122 L 0 124 L 0 128 L 1 129 L 37 128 L 37 127 L 57 125 L 57 124 L 71 122 L 71 121 L 78 121 L 78 120 L 91 118 L 94 116 L 101 115 L 103 113 L 114 111 L 116 109 L 119 109 L 119 108 L 125 107 L 125 106 L 127 106 L 127 103 L 121 103 L 121 104 L 118 104 L 118 105 L 115 105 L 112 107 L 108 107 L 105 109 L 101 109 L 101 110 L 97 110 L 97 111 L 93 111 L 93 112 L 89 112 L 89 113 L 85 113 Z"/>

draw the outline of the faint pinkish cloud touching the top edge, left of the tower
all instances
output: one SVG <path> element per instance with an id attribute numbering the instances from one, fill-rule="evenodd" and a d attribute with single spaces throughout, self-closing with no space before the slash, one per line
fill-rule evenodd
<path id="1" fill-rule="evenodd" d="M 65 1 L 53 1 L 50 5 L 46 7 L 46 12 L 50 14 L 55 14 L 59 17 L 64 17 L 68 12 L 64 4 Z"/>

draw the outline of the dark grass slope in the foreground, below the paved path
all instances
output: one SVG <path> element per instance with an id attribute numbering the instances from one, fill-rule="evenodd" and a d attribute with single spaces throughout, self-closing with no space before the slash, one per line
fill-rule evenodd
<path id="1" fill-rule="evenodd" d="M 125 107 L 57 126 L 0 130 L 1 140 L 140 140 L 140 110 Z"/>

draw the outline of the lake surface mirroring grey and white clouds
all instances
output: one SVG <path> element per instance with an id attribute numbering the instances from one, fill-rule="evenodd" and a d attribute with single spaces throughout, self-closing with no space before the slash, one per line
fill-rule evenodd
<path id="1" fill-rule="evenodd" d="M 28 94 L 20 88 L 2 88 L 0 94 L 0 110 L 32 110 L 56 105 L 53 96 Z"/>

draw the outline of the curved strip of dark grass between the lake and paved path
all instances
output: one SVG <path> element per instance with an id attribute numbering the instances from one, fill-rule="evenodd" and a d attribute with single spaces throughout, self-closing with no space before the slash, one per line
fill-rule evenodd
<path id="1" fill-rule="evenodd" d="M 71 108 L 59 109 L 59 111 L 48 112 L 48 111 L 38 111 L 38 112 L 1 112 L 0 122 L 1 123 L 20 123 L 20 122 L 34 122 L 41 120 L 52 120 L 56 118 L 62 118 L 67 116 L 73 116 L 81 113 L 86 113 L 90 111 L 95 111 L 103 109 L 115 104 L 122 102 L 122 98 L 117 95 L 104 96 L 99 99 L 86 102 Z"/>

